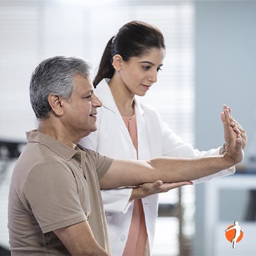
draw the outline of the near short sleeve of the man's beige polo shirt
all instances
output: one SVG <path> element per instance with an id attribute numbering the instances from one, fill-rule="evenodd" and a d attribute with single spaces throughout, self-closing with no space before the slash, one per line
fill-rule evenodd
<path id="1" fill-rule="evenodd" d="M 23 193 L 43 233 L 87 220 L 72 171 L 62 162 L 36 165 Z"/>

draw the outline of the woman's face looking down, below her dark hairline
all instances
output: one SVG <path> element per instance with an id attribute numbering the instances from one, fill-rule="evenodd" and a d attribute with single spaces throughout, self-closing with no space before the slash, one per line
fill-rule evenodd
<path id="1" fill-rule="evenodd" d="M 133 95 L 144 96 L 157 81 L 157 73 L 161 70 L 165 50 L 152 48 L 140 57 L 131 57 L 122 62 L 120 78 Z"/>

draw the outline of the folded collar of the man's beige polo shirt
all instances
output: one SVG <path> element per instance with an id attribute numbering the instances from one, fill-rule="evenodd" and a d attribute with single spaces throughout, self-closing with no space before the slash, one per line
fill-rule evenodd
<path id="1" fill-rule="evenodd" d="M 54 139 L 49 135 L 38 132 L 36 129 L 26 132 L 26 137 L 28 142 L 37 142 L 42 145 L 48 146 L 67 161 L 71 160 L 71 158 L 77 153 L 77 150 L 74 150 L 73 148 L 58 141 L 57 139 Z"/>

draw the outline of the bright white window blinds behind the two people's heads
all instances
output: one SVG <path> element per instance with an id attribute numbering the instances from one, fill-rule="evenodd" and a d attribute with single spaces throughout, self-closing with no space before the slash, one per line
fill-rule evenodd
<path id="1" fill-rule="evenodd" d="M 158 81 L 139 100 L 153 106 L 185 142 L 193 144 L 194 7 L 190 1 L 0 1 L 0 137 L 25 140 L 25 130 L 36 127 L 28 90 L 32 70 L 41 60 L 76 55 L 96 68 L 108 40 L 131 20 L 156 25 L 166 43 Z M 0 188 L 0 244 L 8 245 L 6 188 L 10 175 L 5 179 Z M 192 188 L 184 188 L 183 193 L 193 196 L 188 189 Z M 160 203 L 177 200 L 177 190 L 171 190 L 161 194 Z M 161 247 L 156 241 L 155 248 Z M 174 247 L 155 250 L 154 255 L 175 255 Z"/>

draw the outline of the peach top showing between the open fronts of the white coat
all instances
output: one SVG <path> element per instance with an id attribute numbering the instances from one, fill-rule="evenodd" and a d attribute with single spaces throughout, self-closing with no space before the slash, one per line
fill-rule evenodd
<path id="1" fill-rule="evenodd" d="M 138 156 L 138 138 L 136 115 L 123 117 L 124 123 L 132 138 L 132 142 Z M 138 157 L 137 157 L 138 158 Z M 141 199 L 135 199 L 133 204 L 132 221 L 129 229 L 127 242 L 125 244 L 123 256 L 142 256 L 145 254 L 147 243 L 147 229 Z"/>

